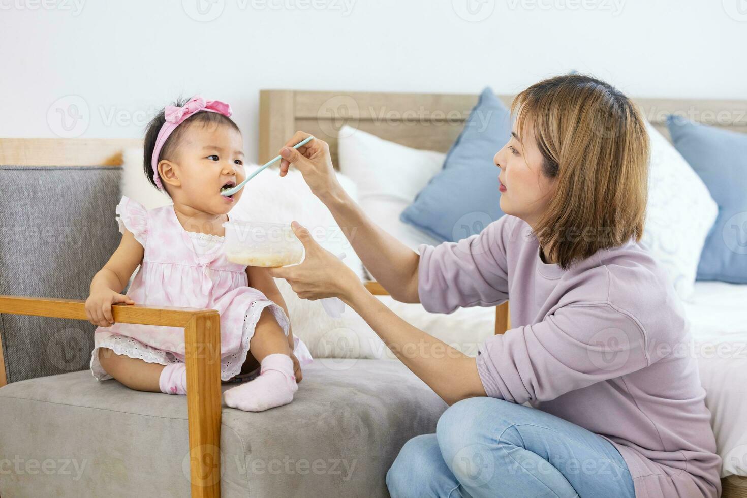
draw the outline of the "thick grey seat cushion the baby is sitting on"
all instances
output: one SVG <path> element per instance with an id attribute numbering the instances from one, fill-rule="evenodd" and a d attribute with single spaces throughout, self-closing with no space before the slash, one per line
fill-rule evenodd
<path id="1" fill-rule="evenodd" d="M 223 498 L 388 496 L 400 448 L 447 405 L 400 361 L 347 362 L 308 365 L 290 405 L 223 406 Z M 189 496 L 186 396 L 66 373 L 1 387 L 0 420 L 3 458 L 21 462 L 2 497 Z"/>

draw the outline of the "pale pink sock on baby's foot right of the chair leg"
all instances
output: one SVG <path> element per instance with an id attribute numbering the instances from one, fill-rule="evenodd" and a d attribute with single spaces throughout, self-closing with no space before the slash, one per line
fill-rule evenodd
<path id="1" fill-rule="evenodd" d="M 291 357 L 282 353 L 267 355 L 260 366 L 256 379 L 223 393 L 226 405 L 244 411 L 264 411 L 293 401 L 298 386 Z"/>

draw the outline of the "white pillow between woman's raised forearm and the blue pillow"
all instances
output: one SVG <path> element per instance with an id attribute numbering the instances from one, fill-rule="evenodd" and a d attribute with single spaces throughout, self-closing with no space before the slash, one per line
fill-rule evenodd
<path id="1" fill-rule="evenodd" d="M 363 211 L 388 234 L 411 249 L 437 245 L 418 228 L 400 221 L 400 214 L 444 164 L 441 152 L 411 149 L 365 131 L 343 126 L 338 137 L 340 171 L 358 187 Z"/>

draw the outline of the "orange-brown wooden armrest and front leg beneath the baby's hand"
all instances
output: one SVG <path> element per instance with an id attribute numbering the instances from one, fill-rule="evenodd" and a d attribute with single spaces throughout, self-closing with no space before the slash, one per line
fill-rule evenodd
<path id="1" fill-rule="evenodd" d="M 184 327 L 192 497 L 220 497 L 220 315 L 216 310 L 117 304 L 114 321 Z M 85 302 L 0 295 L 0 314 L 88 320 Z M 0 341 L 0 387 L 7 382 Z"/>

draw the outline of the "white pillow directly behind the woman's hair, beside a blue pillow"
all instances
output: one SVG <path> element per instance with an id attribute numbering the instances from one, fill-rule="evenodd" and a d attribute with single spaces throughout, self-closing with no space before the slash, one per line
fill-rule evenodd
<path id="1" fill-rule="evenodd" d="M 718 206 L 700 177 L 648 122 L 648 205 L 641 243 L 661 264 L 681 299 L 689 299 Z"/>

